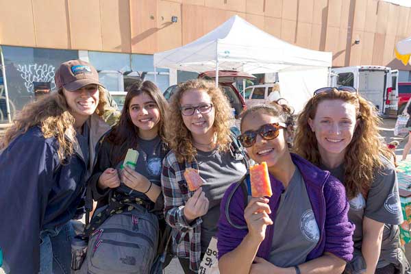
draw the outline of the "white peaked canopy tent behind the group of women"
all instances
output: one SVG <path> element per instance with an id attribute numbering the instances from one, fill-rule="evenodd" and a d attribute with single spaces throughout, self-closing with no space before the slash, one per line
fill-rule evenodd
<path id="1" fill-rule="evenodd" d="M 291 45 L 237 15 L 194 42 L 154 54 L 154 67 L 180 71 L 278 72 L 282 97 L 296 111 L 316 88 L 327 86 L 330 66 L 332 53 Z"/>

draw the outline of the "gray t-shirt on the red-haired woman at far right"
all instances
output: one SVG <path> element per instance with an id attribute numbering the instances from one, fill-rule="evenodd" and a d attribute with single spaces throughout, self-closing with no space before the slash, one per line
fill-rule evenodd
<path id="1" fill-rule="evenodd" d="M 356 225 L 353 234 L 354 247 L 361 250 L 362 247 L 362 221 L 364 216 L 380 223 L 385 223 L 382 235 L 381 253 L 377 269 L 390 263 L 397 262 L 397 247 L 399 242 L 399 227 L 403 222 L 401 203 L 399 201 L 397 173 L 395 168 L 386 158 L 383 169 L 374 172 L 373 183 L 364 199 L 360 193 L 349 201 L 348 219 Z M 321 169 L 328 170 L 334 177 L 344 184 L 344 164 L 335 169 L 327 169 L 321 165 Z"/>

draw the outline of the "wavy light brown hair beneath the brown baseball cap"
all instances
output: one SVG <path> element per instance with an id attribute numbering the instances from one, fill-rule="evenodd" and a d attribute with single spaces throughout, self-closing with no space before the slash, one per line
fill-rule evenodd
<path id="1" fill-rule="evenodd" d="M 99 88 L 99 104 L 95 113 L 103 116 L 106 99 L 104 90 Z M 42 96 L 38 101 L 28 103 L 23 110 L 19 112 L 13 124 L 5 132 L 3 142 L 0 142 L 0 150 L 10 145 L 10 142 L 25 134 L 31 127 L 39 126 L 45 138 L 55 137 L 58 141 L 58 158 L 60 162 L 73 154 L 73 143 L 64 137 L 64 134 L 71 132 L 75 136 L 74 117 L 69 112 L 69 105 L 63 90 L 60 88 L 50 95 Z"/>

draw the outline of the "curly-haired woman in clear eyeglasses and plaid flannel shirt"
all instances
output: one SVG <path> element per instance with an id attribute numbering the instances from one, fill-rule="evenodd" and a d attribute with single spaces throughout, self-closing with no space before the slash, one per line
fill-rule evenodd
<path id="1" fill-rule="evenodd" d="M 233 143 L 229 101 L 214 82 L 179 84 L 171 98 L 163 162 L 164 216 L 173 227 L 173 253 L 185 273 L 197 273 L 220 216 L 229 184 L 246 172 L 245 158 Z M 184 171 L 195 169 L 203 185 L 190 191 Z"/>

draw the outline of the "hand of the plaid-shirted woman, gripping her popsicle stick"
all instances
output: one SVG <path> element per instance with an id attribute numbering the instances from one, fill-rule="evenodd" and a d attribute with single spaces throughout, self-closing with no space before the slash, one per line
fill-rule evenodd
<path id="1" fill-rule="evenodd" d="M 206 194 L 201 188 L 198 188 L 184 206 L 183 213 L 187 223 L 205 215 L 208 212 L 208 203 Z"/>

